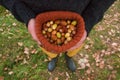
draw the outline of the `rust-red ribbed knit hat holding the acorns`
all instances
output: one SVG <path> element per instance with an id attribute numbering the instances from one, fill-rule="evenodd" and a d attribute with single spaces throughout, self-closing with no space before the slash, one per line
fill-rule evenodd
<path id="1" fill-rule="evenodd" d="M 55 21 L 57 19 L 77 20 L 78 23 L 77 31 L 74 38 L 69 43 L 63 44 L 61 46 L 51 44 L 42 34 L 42 25 L 47 21 L 50 20 Z M 85 31 L 85 24 L 83 18 L 77 13 L 69 12 L 69 11 L 52 11 L 52 12 L 41 13 L 36 17 L 35 30 L 36 30 L 36 35 L 39 41 L 41 42 L 43 48 L 53 53 L 61 53 L 75 46 L 77 42 L 81 40 Z"/>

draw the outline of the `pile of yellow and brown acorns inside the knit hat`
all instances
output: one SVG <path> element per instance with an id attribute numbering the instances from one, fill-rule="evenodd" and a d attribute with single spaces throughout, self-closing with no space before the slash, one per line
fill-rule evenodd
<path id="1" fill-rule="evenodd" d="M 51 20 L 42 25 L 42 34 L 51 44 L 63 45 L 74 38 L 76 28 L 76 20 Z"/>

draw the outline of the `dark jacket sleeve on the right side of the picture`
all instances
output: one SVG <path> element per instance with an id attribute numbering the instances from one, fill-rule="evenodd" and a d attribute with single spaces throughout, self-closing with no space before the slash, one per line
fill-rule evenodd
<path id="1" fill-rule="evenodd" d="M 86 31 L 89 34 L 95 24 L 102 18 L 105 11 L 113 4 L 115 0 L 91 0 L 82 12 L 85 21 Z"/>

